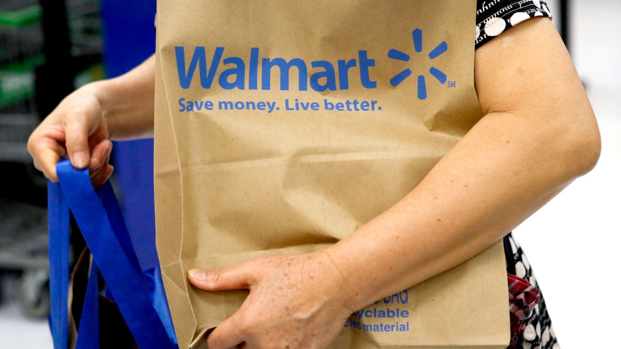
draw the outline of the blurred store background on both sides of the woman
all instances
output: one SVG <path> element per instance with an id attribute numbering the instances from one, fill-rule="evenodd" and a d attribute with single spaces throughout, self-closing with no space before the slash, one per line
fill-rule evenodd
<path id="1" fill-rule="evenodd" d="M 515 235 L 535 268 L 563 348 L 613 348 L 621 312 L 615 301 L 621 243 L 621 45 L 615 34 L 621 32 L 621 2 L 548 5 L 591 97 L 603 151 L 592 173 Z M 153 53 L 154 16 L 155 0 L 0 0 L 0 349 L 52 348 L 47 182 L 32 166 L 28 136 L 73 89 L 118 76 Z M 156 264 L 153 159 L 138 154 L 151 154 L 152 147 L 152 140 L 117 142 L 112 157 L 129 230 L 145 247 L 143 266 Z M 569 238 L 555 240 L 558 235 Z M 76 250 L 83 244 L 79 237 L 72 243 Z"/>

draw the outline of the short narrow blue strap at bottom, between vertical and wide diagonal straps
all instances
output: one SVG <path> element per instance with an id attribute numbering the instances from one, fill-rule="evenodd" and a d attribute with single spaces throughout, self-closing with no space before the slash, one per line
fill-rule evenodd
<path id="1" fill-rule="evenodd" d="M 99 270 L 93 260 L 79 320 L 76 349 L 99 349 Z"/>

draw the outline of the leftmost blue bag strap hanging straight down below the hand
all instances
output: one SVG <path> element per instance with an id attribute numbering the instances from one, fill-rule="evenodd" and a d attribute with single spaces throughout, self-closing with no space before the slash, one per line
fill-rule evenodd
<path id="1" fill-rule="evenodd" d="M 69 294 L 69 206 L 60 184 L 48 181 L 48 255 L 50 258 L 50 330 L 54 348 L 67 348 Z"/>

